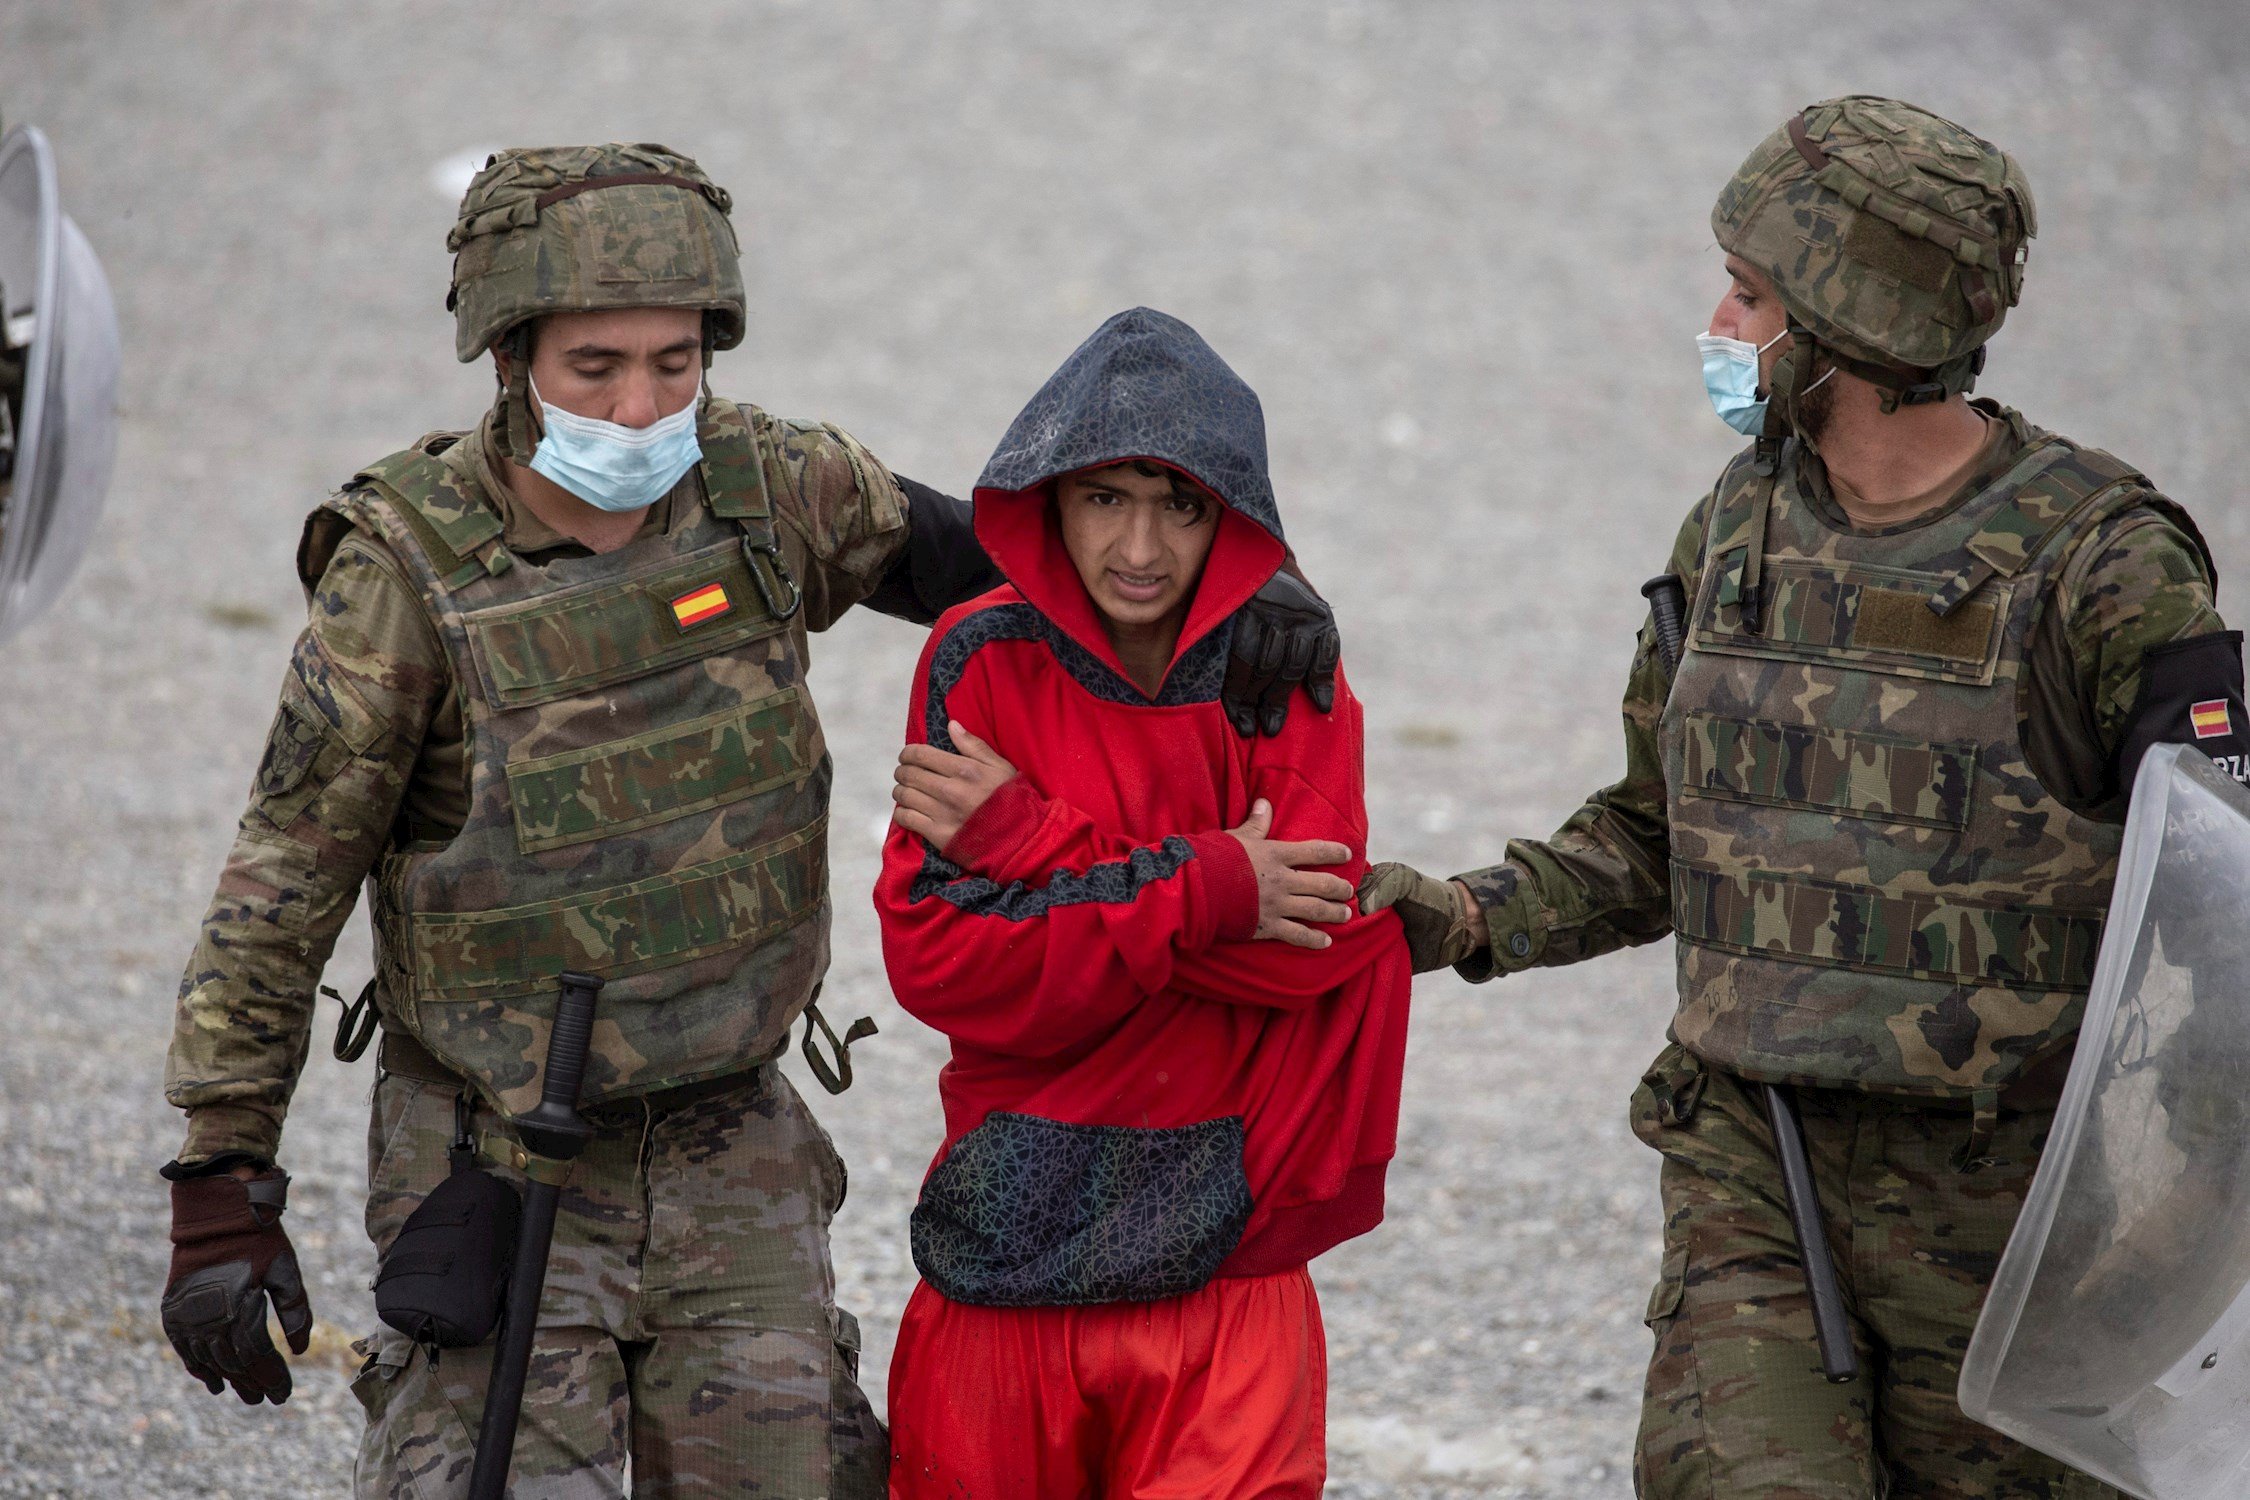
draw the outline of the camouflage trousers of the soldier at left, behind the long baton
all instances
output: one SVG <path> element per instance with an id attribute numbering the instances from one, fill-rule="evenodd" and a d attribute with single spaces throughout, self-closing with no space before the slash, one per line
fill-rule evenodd
<path id="1" fill-rule="evenodd" d="M 454 1097 L 400 1075 L 376 1084 L 378 1250 L 446 1176 Z M 889 1442 L 828 1266 L 844 1163 L 790 1082 L 765 1066 L 680 1109 L 621 1102 L 590 1120 L 556 1214 L 508 1493 L 882 1496 Z M 479 1109 L 472 1129 L 495 1122 Z M 493 1345 L 432 1361 L 385 1327 L 358 1347 L 360 1500 L 464 1496 Z"/>

